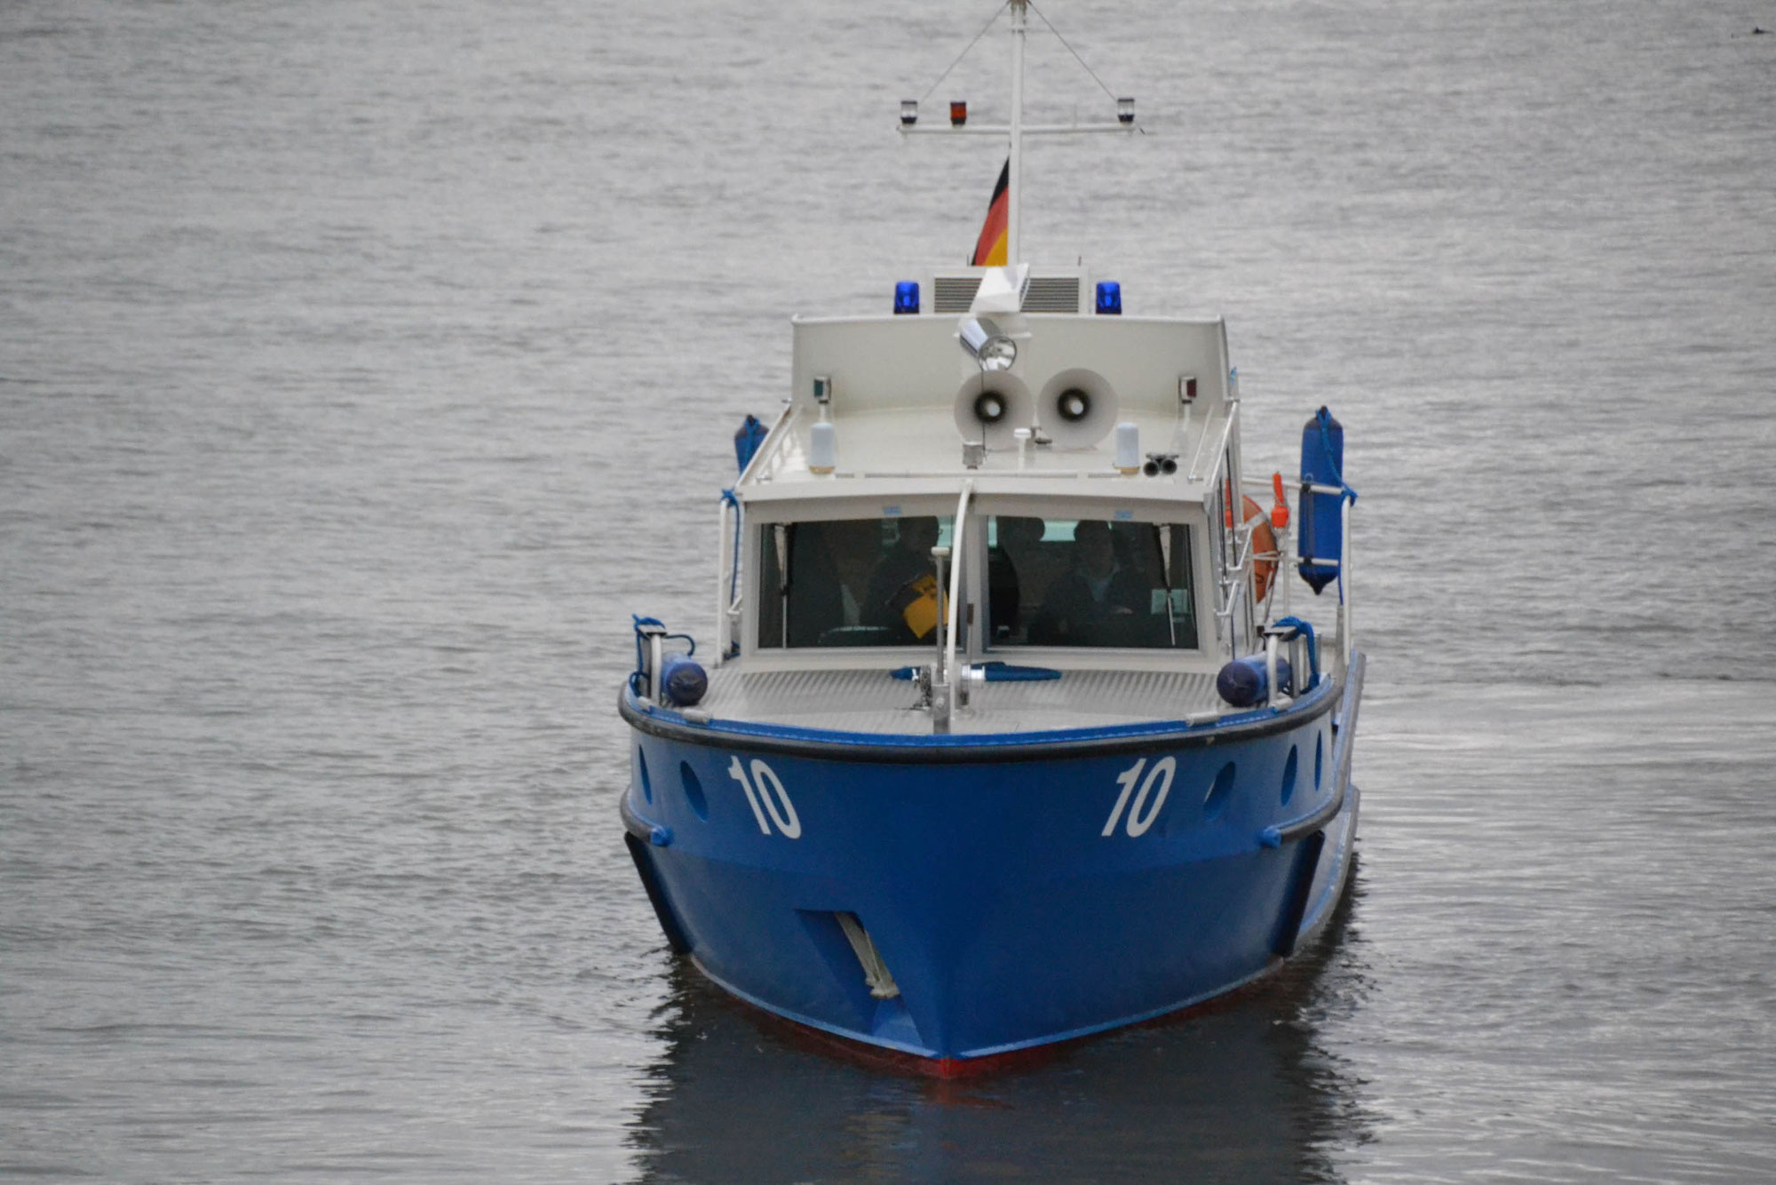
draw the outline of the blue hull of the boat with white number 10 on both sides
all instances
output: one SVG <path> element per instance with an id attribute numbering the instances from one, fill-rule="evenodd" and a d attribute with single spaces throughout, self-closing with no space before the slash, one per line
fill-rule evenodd
<path id="1" fill-rule="evenodd" d="M 902 753 L 625 693 L 629 847 L 673 947 L 758 1007 L 924 1059 L 1066 1041 L 1229 991 L 1330 915 L 1360 670 L 1243 727 Z"/>

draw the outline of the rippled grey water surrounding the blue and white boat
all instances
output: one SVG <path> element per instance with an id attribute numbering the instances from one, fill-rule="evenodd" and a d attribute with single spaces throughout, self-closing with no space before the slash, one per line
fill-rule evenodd
<path id="1" fill-rule="evenodd" d="M 1051 0 L 1149 135 L 1037 144 L 1030 254 L 1225 313 L 1249 462 L 1348 426 L 1353 897 L 961 1087 L 668 959 L 627 613 L 707 629 L 785 314 L 971 243 L 995 151 L 892 126 L 975 7 L 0 9 L 0 1174 L 1776 1176 L 1776 36 L 1712 0 Z"/>

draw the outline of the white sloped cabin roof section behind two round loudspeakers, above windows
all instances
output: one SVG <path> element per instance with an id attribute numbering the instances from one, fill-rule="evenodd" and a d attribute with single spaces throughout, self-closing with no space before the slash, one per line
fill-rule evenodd
<path id="1" fill-rule="evenodd" d="M 1220 320 L 995 314 L 1018 359 L 982 373 L 957 341 L 966 316 L 794 320 L 792 393 L 737 492 L 751 501 L 954 494 L 975 478 L 977 494 L 1201 501 L 1236 409 Z M 984 389 L 1009 405 L 993 426 L 971 410 Z M 1058 416 L 1064 391 L 1087 393 L 1083 421 Z M 822 419 L 836 435 L 836 469 L 815 474 L 810 433 Z M 1119 423 L 1138 428 L 1140 455 L 1170 453 L 1177 471 L 1119 473 Z M 1014 426 L 1051 442 L 1019 455 Z M 977 467 L 964 467 L 968 441 L 986 444 Z"/>

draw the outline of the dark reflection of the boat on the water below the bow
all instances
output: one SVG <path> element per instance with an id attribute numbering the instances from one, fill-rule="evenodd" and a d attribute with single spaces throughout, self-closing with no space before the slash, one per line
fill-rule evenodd
<path id="1" fill-rule="evenodd" d="M 680 963 L 632 1137 L 645 1180 L 1339 1180 L 1330 1157 L 1368 1117 L 1318 1027 L 1364 998 L 1360 894 L 1227 1004 L 961 1082 L 812 1048 Z"/>

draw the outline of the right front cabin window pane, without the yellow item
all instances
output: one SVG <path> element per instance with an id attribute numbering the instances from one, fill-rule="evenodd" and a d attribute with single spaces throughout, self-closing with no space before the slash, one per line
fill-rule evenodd
<path id="1" fill-rule="evenodd" d="M 1190 528 L 987 519 L 993 645 L 1197 648 Z"/>

